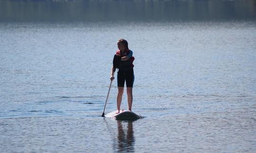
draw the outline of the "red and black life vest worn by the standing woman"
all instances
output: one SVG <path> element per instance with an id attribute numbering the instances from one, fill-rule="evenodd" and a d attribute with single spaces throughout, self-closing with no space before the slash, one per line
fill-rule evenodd
<path id="1" fill-rule="evenodd" d="M 124 57 L 127 56 L 130 53 L 130 50 L 127 49 L 125 50 L 124 54 L 120 53 L 120 50 L 117 51 L 116 55 L 120 56 L 120 57 Z M 132 69 L 134 67 L 133 65 L 133 61 L 135 60 L 135 58 L 132 56 L 131 58 L 129 58 L 126 61 L 120 61 L 119 65 L 118 65 L 118 69 L 120 70 L 129 70 Z"/>

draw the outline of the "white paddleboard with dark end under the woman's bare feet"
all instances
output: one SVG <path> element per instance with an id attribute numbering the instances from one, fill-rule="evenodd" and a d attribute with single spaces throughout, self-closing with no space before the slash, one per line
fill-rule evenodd
<path id="1" fill-rule="evenodd" d="M 113 111 L 107 114 L 105 117 L 115 118 L 117 120 L 136 120 L 141 118 L 141 116 L 128 110 L 120 111 L 119 114 L 116 114 L 116 111 Z"/>

